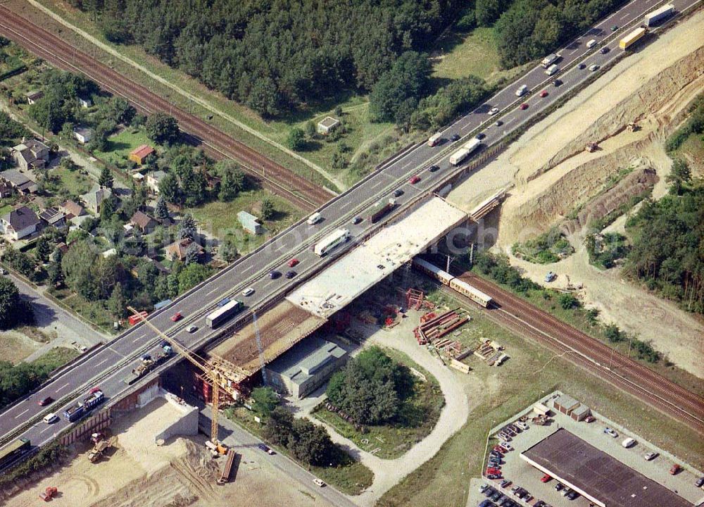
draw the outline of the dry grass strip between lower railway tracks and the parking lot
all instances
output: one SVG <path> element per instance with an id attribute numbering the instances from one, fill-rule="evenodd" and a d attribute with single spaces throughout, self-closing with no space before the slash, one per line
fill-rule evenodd
<path id="1" fill-rule="evenodd" d="M 458 306 L 456 302 L 451 304 Z M 470 478 L 479 477 L 482 470 L 489 429 L 554 389 L 574 396 L 684 461 L 697 467 L 704 465 L 704 456 L 691 445 L 698 442 L 693 430 L 555 357 L 551 351 L 497 327 L 478 309 L 470 307 L 468 311 L 472 321 L 465 327 L 490 330 L 487 337 L 505 346 L 510 359 L 497 369 L 470 356 L 473 370 L 469 382 L 479 385 L 475 390 L 483 396 L 472 401 L 479 404 L 461 430 L 432 459 L 386 492 L 377 506 L 465 505 Z"/>

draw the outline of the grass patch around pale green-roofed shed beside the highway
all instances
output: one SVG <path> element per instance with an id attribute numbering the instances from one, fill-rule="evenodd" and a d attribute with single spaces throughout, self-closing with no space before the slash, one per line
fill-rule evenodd
<path id="1" fill-rule="evenodd" d="M 220 239 L 228 234 L 237 238 L 238 251 L 246 252 L 255 249 L 264 239 L 265 234 L 253 236 L 246 234 L 237 221 L 237 213 L 247 211 L 258 215 L 256 208 L 262 199 L 268 198 L 274 202 L 276 213 L 274 220 L 264 223 L 265 229 L 272 235 L 284 230 L 286 227 L 301 218 L 301 211 L 291 206 L 288 201 L 279 196 L 272 195 L 266 190 L 247 190 L 230 202 L 212 201 L 197 208 L 189 208 L 199 226 Z"/>

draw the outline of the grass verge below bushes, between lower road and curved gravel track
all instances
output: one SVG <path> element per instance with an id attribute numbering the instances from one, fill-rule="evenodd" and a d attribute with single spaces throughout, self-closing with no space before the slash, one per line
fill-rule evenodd
<path id="1" fill-rule="evenodd" d="M 251 434 L 263 439 L 263 426 L 254 421 L 254 416 L 251 411 L 244 407 L 231 407 L 225 409 L 225 415 L 227 418 L 237 423 L 237 425 L 244 427 Z M 289 453 L 288 449 L 279 446 L 272 447 L 278 452 L 285 454 L 293 461 L 296 461 L 296 458 Z M 358 461 L 352 461 L 351 458 L 349 458 L 346 465 L 337 468 L 323 468 L 303 465 L 302 463 L 299 464 L 308 468 L 314 475 L 317 475 L 323 481 L 339 489 L 339 491 L 349 495 L 360 494 L 367 489 L 367 487 L 370 487 L 374 480 L 372 470 Z"/>

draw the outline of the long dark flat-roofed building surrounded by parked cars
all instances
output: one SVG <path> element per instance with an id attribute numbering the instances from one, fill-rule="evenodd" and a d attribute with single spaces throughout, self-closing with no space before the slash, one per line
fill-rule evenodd
<path id="1" fill-rule="evenodd" d="M 600 507 L 692 505 L 565 428 L 529 447 L 520 456 Z"/>

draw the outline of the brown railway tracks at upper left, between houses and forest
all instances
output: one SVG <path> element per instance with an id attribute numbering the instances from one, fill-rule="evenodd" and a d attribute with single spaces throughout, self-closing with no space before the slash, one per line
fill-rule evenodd
<path id="1" fill-rule="evenodd" d="M 58 68 L 86 75 L 106 91 L 127 99 L 143 113 L 169 113 L 176 118 L 191 144 L 201 146 L 203 151 L 213 158 L 237 160 L 263 187 L 283 196 L 305 211 L 319 208 L 332 198 L 327 189 L 258 154 L 196 115 L 173 106 L 161 96 L 132 82 L 4 6 L 0 6 L 0 35 L 12 39 L 27 51 Z"/>

